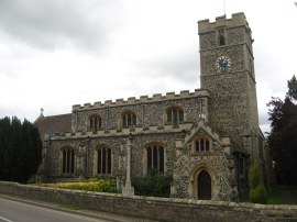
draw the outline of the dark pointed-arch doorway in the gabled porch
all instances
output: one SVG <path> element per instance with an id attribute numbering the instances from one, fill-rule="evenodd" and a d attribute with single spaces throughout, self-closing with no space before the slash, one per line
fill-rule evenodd
<path id="1" fill-rule="evenodd" d="M 199 173 L 197 177 L 198 200 L 211 200 L 211 177 L 207 170 Z"/>

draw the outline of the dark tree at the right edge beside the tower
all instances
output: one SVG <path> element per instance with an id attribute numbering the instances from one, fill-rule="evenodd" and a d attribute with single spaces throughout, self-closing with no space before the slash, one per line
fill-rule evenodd
<path id="1" fill-rule="evenodd" d="M 297 80 L 288 80 L 285 100 L 272 98 L 268 107 L 271 134 L 267 143 L 277 184 L 297 185 Z"/>

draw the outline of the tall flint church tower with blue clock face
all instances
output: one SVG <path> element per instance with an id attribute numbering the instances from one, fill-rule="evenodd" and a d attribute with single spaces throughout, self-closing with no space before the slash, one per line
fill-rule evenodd
<path id="1" fill-rule="evenodd" d="M 244 13 L 226 15 L 209 23 L 198 22 L 200 38 L 200 82 L 211 91 L 210 122 L 250 152 L 261 167 L 263 135 L 258 113 L 252 48 L 252 31 Z"/>

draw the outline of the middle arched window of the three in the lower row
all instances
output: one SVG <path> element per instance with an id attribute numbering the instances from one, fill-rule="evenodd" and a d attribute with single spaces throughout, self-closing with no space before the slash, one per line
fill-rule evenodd
<path id="1" fill-rule="evenodd" d="M 111 174 L 111 149 L 102 146 L 97 149 L 97 174 Z"/>

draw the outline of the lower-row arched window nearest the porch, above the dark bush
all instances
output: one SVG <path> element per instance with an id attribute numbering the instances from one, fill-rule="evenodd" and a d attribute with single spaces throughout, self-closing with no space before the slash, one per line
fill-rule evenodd
<path id="1" fill-rule="evenodd" d="M 164 147 L 161 144 L 150 144 L 146 146 L 146 168 L 147 173 L 155 170 L 164 173 Z"/>

